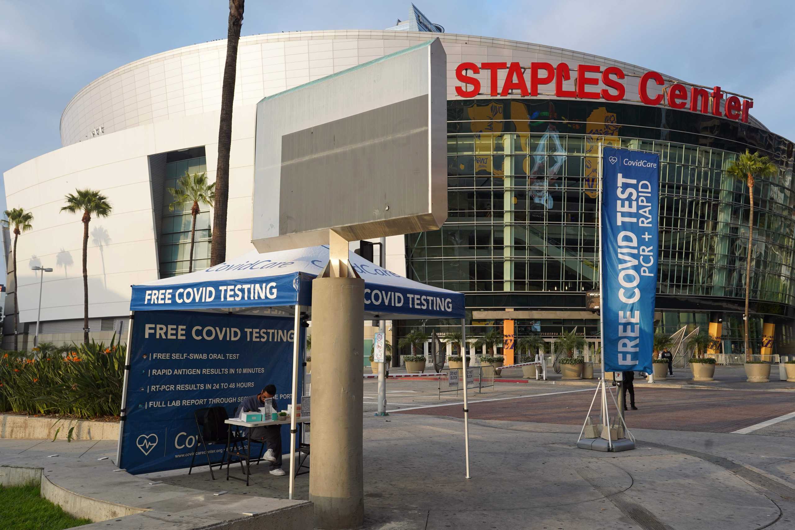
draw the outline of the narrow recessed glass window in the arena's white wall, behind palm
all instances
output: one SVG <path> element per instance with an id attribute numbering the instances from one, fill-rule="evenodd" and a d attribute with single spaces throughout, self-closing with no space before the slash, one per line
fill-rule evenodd
<path id="1" fill-rule="evenodd" d="M 165 164 L 165 184 L 163 188 L 163 210 L 161 212 L 160 237 L 160 276 L 169 278 L 188 272 L 188 259 L 191 248 L 191 207 L 184 203 L 169 210 L 174 200 L 169 188 L 176 188 L 176 182 L 185 172 L 189 174 L 207 171 L 205 157 L 187 160 L 169 161 Z M 200 213 L 196 216 L 196 240 L 193 248 L 193 269 L 204 269 L 210 266 L 210 208 L 200 204 Z"/>

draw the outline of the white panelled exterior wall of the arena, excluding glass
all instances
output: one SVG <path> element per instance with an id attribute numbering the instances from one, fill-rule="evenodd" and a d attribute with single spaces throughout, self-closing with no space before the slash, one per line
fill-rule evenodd
<path id="1" fill-rule="evenodd" d="M 457 99 L 456 66 L 487 60 L 615 65 L 627 75 L 626 100 L 635 101 L 633 64 L 541 44 L 451 33 L 315 31 L 242 37 L 238 50 L 231 148 L 227 255 L 250 245 L 255 105 L 266 95 L 296 87 L 385 54 L 438 37 L 448 56 L 448 99 Z M 61 118 L 64 145 L 5 172 L 8 207 L 33 211 L 33 230 L 18 243 L 20 320 L 35 322 L 39 278 L 32 265 L 55 268 L 45 276 L 41 319 L 83 315 L 82 226 L 60 213 L 76 188 L 106 193 L 107 219 L 94 219 L 88 248 L 91 318 L 128 314 L 130 284 L 158 277 L 157 237 L 148 157 L 204 146 L 207 176 L 215 180 L 221 82 L 226 41 L 178 48 L 103 75 L 83 88 Z M 502 79 L 504 79 L 504 71 Z M 667 78 L 668 76 L 666 76 Z M 487 73 L 479 78 L 488 93 Z M 673 79 L 673 78 L 672 78 Z M 572 88 L 572 82 L 566 88 Z M 488 96 L 484 96 L 488 97 Z M 758 123 L 757 123 L 758 125 Z M 405 273 L 402 238 L 390 238 L 387 265 Z M 10 284 L 10 291 L 14 285 Z M 11 296 L 8 297 L 12 299 Z M 13 308 L 6 304 L 6 314 Z M 6 319 L 6 333 L 9 332 Z"/>

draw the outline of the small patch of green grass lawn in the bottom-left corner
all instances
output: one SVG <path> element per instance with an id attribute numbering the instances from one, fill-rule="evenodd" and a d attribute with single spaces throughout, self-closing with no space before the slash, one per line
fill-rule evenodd
<path id="1" fill-rule="evenodd" d="M 3 530 L 61 530 L 90 520 L 76 519 L 58 505 L 41 498 L 40 486 L 0 486 L 0 513 Z"/>

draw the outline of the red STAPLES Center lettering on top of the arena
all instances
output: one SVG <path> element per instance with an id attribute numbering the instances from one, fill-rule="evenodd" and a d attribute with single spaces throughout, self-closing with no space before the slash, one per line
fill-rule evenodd
<path id="1" fill-rule="evenodd" d="M 498 72 L 507 70 L 505 82 L 498 86 Z M 469 72 L 467 72 L 469 71 Z M 537 96 L 538 87 L 554 83 L 557 98 L 579 99 L 604 99 L 606 101 L 620 101 L 626 95 L 626 87 L 622 83 L 624 72 L 617 66 L 602 67 L 596 64 L 578 64 L 576 68 L 576 87 L 574 90 L 564 90 L 563 83 L 572 79 L 571 68 L 568 64 L 559 63 L 553 66 L 550 63 L 531 63 L 529 68 L 522 67 L 519 63 L 461 63 L 456 68 L 456 79 L 465 86 L 457 86 L 456 94 L 462 98 L 474 98 L 480 93 L 480 79 L 472 74 L 481 71 L 489 72 L 489 86 L 491 95 L 506 96 L 510 91 L 519 91 L 522 96 Z M 605 88 L 591 89 L 601 82 Z M 471 88 L 467 88 L 470 85 Z M 638 96 L 641 103 L 646 105 L 659 105 L 666 100 L 672 109 L 684 109 L 689 106 L 693 112 L 725 116 L 730 120 L 748 122 L 748 111 L 753 108 L 754 102 L 750 99 L 739 99 L 736 95 L 727 95 L 720 109 L 723 92 L 720 87 L 707 91 L 700 87 L 690 87 L 688 90 L 681 83 L 673 83 L 663 89 L 662 94 L 649 95 L 652 86 L 665 87 L 665 80 L 657 72 L 646 72 L 638 82 Z M 718 103 L 711 105 L 711 101 Z"/>

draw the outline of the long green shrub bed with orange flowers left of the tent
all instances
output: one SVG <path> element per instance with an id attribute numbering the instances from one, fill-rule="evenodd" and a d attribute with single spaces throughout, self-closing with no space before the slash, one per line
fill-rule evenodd
<path id="1" fill-rule="evenodd" d="M 111 339 L 73 344 L 66 354 L 7 352 L 0 358 L 4 410 L 79 418 L 118 416 L 126 347 Z"/>

